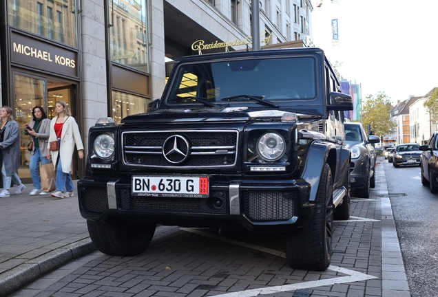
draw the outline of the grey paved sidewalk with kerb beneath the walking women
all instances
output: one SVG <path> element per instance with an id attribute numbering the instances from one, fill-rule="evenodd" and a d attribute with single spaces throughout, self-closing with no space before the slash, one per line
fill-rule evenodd
<path id="1" fill-rule="evenodd" d="M 0 296 L 78 259 L 96 248 L 74 197 L 30 196 L 32 184 L 21 195 L 10 189 L 0 198 Z"/>

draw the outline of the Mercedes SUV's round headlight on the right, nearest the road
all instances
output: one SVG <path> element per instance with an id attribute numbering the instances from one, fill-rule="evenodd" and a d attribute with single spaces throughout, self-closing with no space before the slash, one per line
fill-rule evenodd
<path id="1" fill-rule="evenodd" d="M 266 133 L 257 142 L 257 152 L 265 161 L 275 161 L 284 155 L 284 138 L 277 133 Z"/>

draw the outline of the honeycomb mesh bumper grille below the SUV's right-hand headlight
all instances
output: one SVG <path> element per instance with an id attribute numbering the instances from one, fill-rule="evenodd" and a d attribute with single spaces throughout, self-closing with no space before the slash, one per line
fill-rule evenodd
<path id="1" fill-rule="evenodd" d="M 244 213 L 254 221 L 279 221 L 294 215 L 295 192 L 244 191 Z"/>

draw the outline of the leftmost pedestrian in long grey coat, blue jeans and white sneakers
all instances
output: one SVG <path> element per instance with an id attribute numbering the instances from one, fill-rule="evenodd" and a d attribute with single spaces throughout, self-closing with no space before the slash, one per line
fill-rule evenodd
<path id="1" fill-rule="evenodd" d="M 18 168 L 21 155 L 19 140 L 19 128 L 12 116 L 12 108 L 3 106 L 0 109 L 0 148 L 3 153 L 1 175 L 3 177 L 3 190 L 0 197 L 10 197 L 9 189 L 11 179 L 17 184 L 15 194 L 21 194 L 25 186 L 18 176 Z"/>

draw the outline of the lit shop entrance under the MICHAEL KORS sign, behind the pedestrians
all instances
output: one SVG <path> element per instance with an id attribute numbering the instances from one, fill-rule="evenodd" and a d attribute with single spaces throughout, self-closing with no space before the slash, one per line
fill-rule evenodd
<path id="1" fill-rule="evenodd" d="M 19 125 L 21 144 L 19 177 L 23 183 L 32 183 L 29 172 L 30 153 L 28 151 L 30 136 L 25 135 L 23 132 L 24 124 L 28 124 L 32 120 L 32 109 L 36 105 L 40 105 L 51 120 L 56 116 L 54 110 L 56 101 L 64 100 L 67 102 L 67 106 L 73 115 L 72 102 L 74 100 L 74 89 L 76 89 L 76 85 L 71 83 L 14 72 L 15 100 L 14 107 L 12 108 L 16 111 L 14 120 Z"/>

